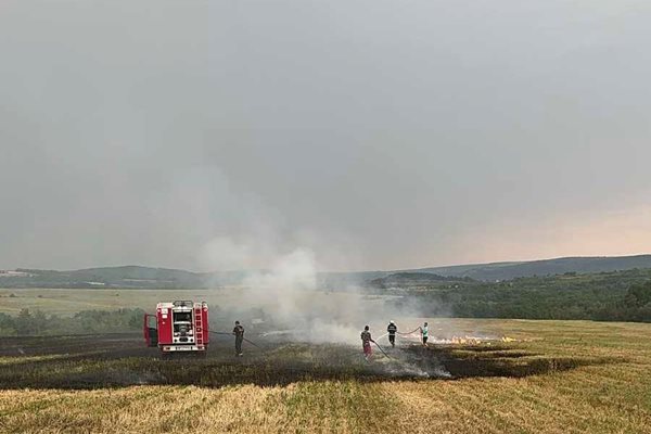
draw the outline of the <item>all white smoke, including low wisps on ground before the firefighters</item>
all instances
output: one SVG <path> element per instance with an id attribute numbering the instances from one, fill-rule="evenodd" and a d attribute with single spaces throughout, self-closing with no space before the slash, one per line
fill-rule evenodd
<path id="1" fill-rule="evenodd" d="M 224 254 L 251 248 L 251 245 L 238 246 L 224 240 L 210 244 L 213 247 L 227 246 Z M 260 248 L 276 251 L 268 245 Z M 212 254 L 217 253 L 212 251 Z M 265 343 L 350 345 L 358 353 L 353 350 L 344 357 L 353 357 L 353 361 L 356 356 L 361 357 L 360 331 L 369 324 L 373 339 L 387 352 L 383 354 L 373 346 L 375 357 L 372 369 L 375 372 L 388 376 L 450 378 L 450 373 L 436 357 L 424 357 L 418 350 L 420 348 L 411 346 L 421 343 L 420 331 L 417 329 L 422 324 L 423 318 L 417 305 L 404 303 L 400 306 L 405 307 L 398 308 L 391 295 L 367 294 L 363 288 L 323 290 L 318 284 L 317 269 L 315 252 L 297 247 L 279 255 L 268 270 L 248 276 L 243 289 L 233 290 L 240 291 L 240 307 L 254 311 L 259 309 L 261 318 L 250 318 L 251 323 L 244 319 L 244 327 L 255 332 L 254 339 Z M 256 321 L 254 324 L 254 319 L 263 322 Z M 386 326 L 391 319 L 396 320 L 403 333 L 396 336 L 395 349 L 390 349 L 386 339 Z M 407 332 L 412 333 L 406 334 Z M 449 324 L 439 323 L 430 329 L 430 342 L 435 344 L 458 343 L 450 340 L 455 335 L 461 334 L 456 333 Z M 470 337 L 468 341 L 476 343 L 482 339 Z M 340 359 L 335 361 L 342 362 Z"/>

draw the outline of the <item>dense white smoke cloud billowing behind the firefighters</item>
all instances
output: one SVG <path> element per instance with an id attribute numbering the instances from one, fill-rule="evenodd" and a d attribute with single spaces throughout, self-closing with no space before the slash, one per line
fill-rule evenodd
<path id="1" fill-rule="evenodd" d="M 224 254 L 238 252 L 242 260 L 247 260 L 245 252 L 251 250 L 224 240 L 210 245 L 212 255 L 217 254 L 216 246 L 226 246 Z M 260 248 L 275 251 L 269 246 Z M 420 317 L 416 309 L 392 310 L 391 296 L 365 294 L 361 288 L 319 288 L 317 269 L 315 252 L 297 247 L 280 254 L 268 270 L 252 272 L 243 288 L 233 291 L 240 291 L 241 308 L 259 309 L 264 323 L 256 329 L 268 339 L 359 345 L 359 333 L 366 324 L 371 326 L 378 339 L 385 334 L 391 319 Z M 352 298 L 350 294 L 356 296 Z"/>

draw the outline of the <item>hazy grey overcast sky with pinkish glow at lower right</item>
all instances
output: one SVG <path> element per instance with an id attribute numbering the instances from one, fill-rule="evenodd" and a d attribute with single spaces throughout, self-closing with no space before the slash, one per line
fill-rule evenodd
<path id="1" fill-rule="evenodd" d="M 651 2 L 8 1 L 0 268 L 651 252 Z"/>

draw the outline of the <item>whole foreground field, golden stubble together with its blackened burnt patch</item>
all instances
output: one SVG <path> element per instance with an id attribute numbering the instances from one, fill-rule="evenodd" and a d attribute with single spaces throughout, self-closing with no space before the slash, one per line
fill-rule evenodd
<path id="1" fill-rule="evenodd" d="M 137 335 L 3 339 L 1 432 L 651 432 L 651 326 L 432 320 L 515 342 L 357 348 L 265 343 L 161 360 Z M 252 337 L 253 339 L 253 337 Z M 451 378 L 419 374 L 420 370 Z"/>

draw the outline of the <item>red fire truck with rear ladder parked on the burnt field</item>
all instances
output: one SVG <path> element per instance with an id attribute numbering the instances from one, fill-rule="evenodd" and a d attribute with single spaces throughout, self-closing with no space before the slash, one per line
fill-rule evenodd
<path id="1" fill-rule="evenodd" d="M 144 340 L 148 346 L 161 348 L 163 355 L 208 349 L 208 305 L 177 301 L 158 303 L 156 315 L 144 314 Z"/>

